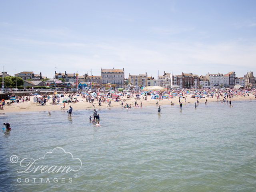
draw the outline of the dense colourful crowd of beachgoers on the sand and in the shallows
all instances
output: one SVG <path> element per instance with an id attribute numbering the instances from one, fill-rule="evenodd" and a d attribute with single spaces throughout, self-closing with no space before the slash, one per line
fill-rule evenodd
<path id="1" fill-rule="evenodd" d="M 64 97 L 65 95 L 65 97 Z M 120 102 L 120 106 L 122 108 L 131 109 L 133 104 L 128 104 L 128 100 L 130 98 L 134 98 L 134 108 L 142 108 L 143 102 L 146 102 L 148 97 L 154 98 L 156 100 L 156 105 L 158 108 L 158 113 L 161 112 L 161 105 L 158 105 L 158 101 L 164 100 L 164 99 L 172 99 L 178 97 L 178 104 L 180 106 L 180 110 L 182 110 L 183 102 L 186 104 L 187 98 L 196 98 L 194 107 L 197 108 L 199 101 L 201 98 L 206 98 L 206 101 L 204 102 L 207 104 L 208 100 L 207 98 L 216 98 L 217 102 L 220 103 L 227 103 L 232 107 L 232 99 L 234 97 L 242 96 L 242 97 L 249 97 L 249 100 L 251 97 L 256 98 L 256 89 L 199 89 L 199 90 L 166 90 L 166 91 L 144 91 L 144 90 L 125 90 L 125 91 L 118 91 L 118 90 L 96 90 L 95 92 L 82 92 L 78 91 L 76 93 L 57 93 L 55 92 L 53 95 L 50 94 L 29 94 L 28 96 L 24 94 L 24 96 L 16 96 L 14 93 L 9 96 L 12 98 L 15 98 L 15 100 L 12 100 L 10 103 L 22 103 L 30 101 L 31 97 L 34 96 L 34 102 L 40 104 L 40 105 L 46 105 L 47 103 L 52 105 L 63 105 L 61 107 L 61 110 L 65 110 L 66 105 L 65 104 L 71 104 L 71 103 L 77 103 L 77 102 L 84 102 L 84 100 L 78 100 L 76 97 L 81 96 L 82 99 L 85 99 L 85 102 L 88 102 L 92 104 L 91 108 L 94 108 L 93 110 L 93 118 L 90 116 L 89 121 L 93 123 L 96 126 L 100 126 L 100 116 L 98 114 L 98 111 L 95 109 L 95 101 L 98 102 L 98 106 L 104 106 L 106 104 L 107 107 L 111 107 L 111 102 Z M 62 99 L 62 104 L 60 104 L 60 99 Z M 121 98 L 122 97 L 122 98 Z M 51 100 L 50 100 L 51 99 Z M 183 101 L 181 101 L 183 99 Z M 8 101 L 8 100 L 7 100 Z M 125 104 L 124 104 L 125 103 Z M 103 104 L 103 105 L 102 105 Z M 4 109 L 4 106 L 6 105 L 6 100 L 2 100 L 0 102 L 0 109 Z M 174 105 L 174 103 L 171 101 L 171 105 Z M 69 105 L 68 108 L 68 116 L 71 117 L 72 115 L 72 106 Z M 50 113 L 49 113 L 50 114 Z M 10 128 L 10 124 L 6 123 L 6 128 Z"/>

